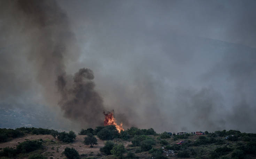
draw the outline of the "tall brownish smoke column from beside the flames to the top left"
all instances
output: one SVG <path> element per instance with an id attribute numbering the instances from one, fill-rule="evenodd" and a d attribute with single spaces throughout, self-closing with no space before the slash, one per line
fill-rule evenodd
<path id="1" fill-rule="evenodd" d="M 25 55 L 32 62 L 46 103 L 58 104 L 66 117 L 81 125 L 102 125 L 103 101 L 94 90 L 92 70 L 83 68 L 74 76 L 65 71 L 65 63 L 79 55 L 65 13 L 52 0 L 8 1 L 4 5 L 14 14 L 10 24 L 21 27 Z"/>

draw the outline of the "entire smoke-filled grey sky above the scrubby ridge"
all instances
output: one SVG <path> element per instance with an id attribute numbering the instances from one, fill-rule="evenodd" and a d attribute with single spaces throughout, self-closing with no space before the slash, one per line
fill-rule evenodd
<path id="1" fill-rule="evenodd" d="M 79 131 L 114 109 L 125 129 L 256 132 L 255 7 L 1 0 L 0 127 Z"/>

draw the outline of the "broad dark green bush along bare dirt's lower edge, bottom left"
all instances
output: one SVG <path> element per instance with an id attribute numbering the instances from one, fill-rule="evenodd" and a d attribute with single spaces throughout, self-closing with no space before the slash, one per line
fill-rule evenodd
<path id="1" fill-rule="evenodd" d="M 27 153 L 27 152 L 40 149 L 41 147 L 42 147 L 41 142 L 36 140 L 33 140 L 33 141 L 28 140 L 18 144 L 16 150 L 18 153 Z"/>

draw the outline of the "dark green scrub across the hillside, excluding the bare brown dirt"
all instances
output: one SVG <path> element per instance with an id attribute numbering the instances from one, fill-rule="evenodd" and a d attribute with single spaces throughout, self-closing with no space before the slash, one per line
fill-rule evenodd
<path id="1" fill-rule="evenodd" d="M 0 141 L 5 143 L 26 134 L 51 134 L 56 141 L 71 144 L 76 141 L 77 135 L 73 132 L 57 132 L 42 128 L 0 129 Z M 75 148 L 66 147 L 62 150 L 62 157 L 69 159 L 79 158 L 223 158 L 243 159 L 256 158 L 256 134 L 241 133 L 240 131 L 205 132 L 205 135 L 171 135 L 167 132 L 157 134 L 151 129 L 138 129 L 131 127 L 118 133 L 115 126 L 98 126 L 95 129 L 82 129 L 79 135 L 84 136 L 82 144 L 89 145 L 86 149 L 93 150 L 98 140 L 101 146 L 98 152 L 79 154 Z M 104 145 L 102 142 L 104 141 Z M 182 141 L 182 142 L 180 142 Z M 180 142 L 180 144 L 177 144 Z M 125 144 L 129 143 L 129 144 Z M 2 158 L 46 159 L 53 158 L 54 152 L 46 153 L 47 141 L 42 139 L 26 140 L 18 143 L 16 147 L 5 147 L 0 150 Z M 81 145 L 79 145 L 81 147 Z M 54 147 L 51 148 L 54 150 Z M 56 153 L 59 148 L 56 148 Z M 28 155 L 26 155 L 28 154 Z"/>

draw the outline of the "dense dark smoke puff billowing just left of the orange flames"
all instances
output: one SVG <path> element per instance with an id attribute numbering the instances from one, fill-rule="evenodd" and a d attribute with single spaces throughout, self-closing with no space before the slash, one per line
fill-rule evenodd
<path id="1" fill-rule="evenodd" d="M 67 77 L 59 76 L 56 84 L 61 94 L 60 107 L 65 116 L 76 121 L 86 121 L 91 126 L 102 125 L 103 100 L 94 90 L 93 72 L 90 69 L 79 69 L 67 87 Z"/>

